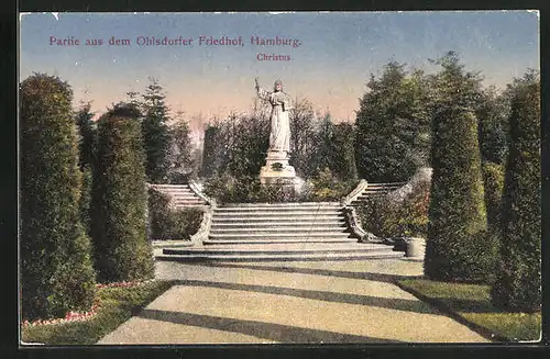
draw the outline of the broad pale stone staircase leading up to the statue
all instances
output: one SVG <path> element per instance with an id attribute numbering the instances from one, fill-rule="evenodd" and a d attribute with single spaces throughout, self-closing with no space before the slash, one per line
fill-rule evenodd
<path id="1" fill-rule="evenodd" d="M 337 202 L 213 207 L 201 246 L 164 248 L 160 260 L 288 261 L 396 258 L 392 246 L 359 243 Z"/>

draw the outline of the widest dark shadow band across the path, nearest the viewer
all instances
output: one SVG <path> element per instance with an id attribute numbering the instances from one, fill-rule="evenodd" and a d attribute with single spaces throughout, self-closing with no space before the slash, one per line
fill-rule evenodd
<path id="1" fill-rule="evenodd" d="M 139 314 L 139 316 L 147 319 L 170 322 L 201 328 L 241 333 L 279 343 L 400 343 L 399 340 L 381 339 L 353 334 L 341 334 L 329 330 L 300 328 L 289 325 L 234 319 L 193 313 L 145 308 Z"/>

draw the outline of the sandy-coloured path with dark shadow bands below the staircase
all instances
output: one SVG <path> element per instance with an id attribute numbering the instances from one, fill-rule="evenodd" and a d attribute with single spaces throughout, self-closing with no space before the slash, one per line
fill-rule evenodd
<path id="1" fill-rule="evenodd" d="M 99 344 L 483 343 L 392 283 L 422 262 L 157 262 L 180 284 Z"/>

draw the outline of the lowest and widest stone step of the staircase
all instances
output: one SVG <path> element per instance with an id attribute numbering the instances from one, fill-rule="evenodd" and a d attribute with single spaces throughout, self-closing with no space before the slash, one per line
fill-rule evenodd
<path id="1" fill-rule="evenodd" d="M 337 260 L 359 260 L 359 259 L 388 259 L 402 258 L 403 253 L 397 251 L 366 251 L 366 253 L 349 253 L 349 254 L 290 254 L 290 255 L 160 255 L 157 260 L 169 261 L 337 261 Z"/>

